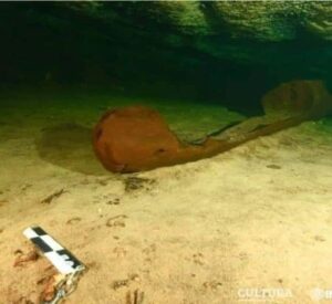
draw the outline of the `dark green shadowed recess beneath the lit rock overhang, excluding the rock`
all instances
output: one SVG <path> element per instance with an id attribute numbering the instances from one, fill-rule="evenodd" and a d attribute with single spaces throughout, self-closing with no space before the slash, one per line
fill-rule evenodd
<path id="1" fill-rule="evenodd" d="M 326 78 L 311 65 L 325 50 L 320 43 L 236 41 L 220 33 L 207 38 L 211 52 L 204 52 L 195 48 L 200 36 L 144 19 L 139 6 L 146 3 L 106 3 L 105 21 L 68 3 L 1 3 L 2 86 L 103 87 L 258 114 L 261 96 L 280 82 Z M 218 45 L 225 55 L 214 55 Z"/>

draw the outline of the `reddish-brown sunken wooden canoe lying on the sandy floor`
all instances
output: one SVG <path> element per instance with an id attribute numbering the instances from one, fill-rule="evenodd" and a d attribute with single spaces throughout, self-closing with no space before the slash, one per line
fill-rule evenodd
<path id="1" fill-rule="evenodd" d="M 321 81 L 281 84 L 262 98 L 266 115 L 249 118 L 200 145 L 184 144 L 163 117 L 145 106 L 110 111 L 94 128 L 93 146 L 103 166 L 133 172 L 211 157 L 259 136 L 317 119 L 332 111 L 332 96 Z"/>

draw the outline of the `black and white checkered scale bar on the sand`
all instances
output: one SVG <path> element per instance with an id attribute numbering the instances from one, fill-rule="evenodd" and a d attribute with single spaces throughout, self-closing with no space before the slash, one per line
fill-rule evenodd
<path id="1" fill-rule="evenodd" d="M 62 273 L 70 274 L 84 269 L 84 265 L 40 227 L 29 227 L 23 234 L 37 245 L 50 262 Z"/>

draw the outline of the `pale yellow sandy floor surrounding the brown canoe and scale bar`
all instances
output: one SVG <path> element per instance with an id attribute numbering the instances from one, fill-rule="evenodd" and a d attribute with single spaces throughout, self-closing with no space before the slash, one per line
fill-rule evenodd
<path id="1" fill-rule="evenodd" d="M 331 119 L 210 159 L 114 175 L 92 153 L 91 127 L 104 108 L 141 102 L 93 98 L 3 98 L 1 304 L 38 303 L 54 272 L 44 258 L 13 266 L 32 249 L 22 235 L 32 224 L 87 266 L 68 304 L 131 304 L 135 291 L 155 304 L 304 304 L 313 289 L 332 290 Z M 240 117 L 217 105 L 156 107 L 184 138 Z M 246 297 L 247 289 L 288 296 Z"/>

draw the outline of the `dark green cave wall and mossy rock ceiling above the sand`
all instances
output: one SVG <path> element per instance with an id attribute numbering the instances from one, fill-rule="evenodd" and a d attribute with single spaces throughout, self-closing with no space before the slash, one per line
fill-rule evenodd
<path id="1" fill-rule="evenodd" d="M 280 82 L 331 82 L 321 7 L 293 2 L 2 2 L 0 81 L 257 109 Z"/>

